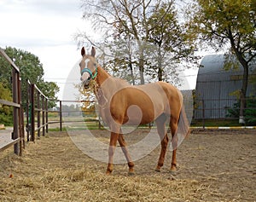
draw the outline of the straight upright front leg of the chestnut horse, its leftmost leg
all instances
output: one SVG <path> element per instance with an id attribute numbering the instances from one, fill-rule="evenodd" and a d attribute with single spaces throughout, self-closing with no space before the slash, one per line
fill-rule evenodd
<path id="1" fill-rule="evenodd" d="M 117 140 L 119 139 L 119 133 L 111 132 L 109 147 L 108 147 L 108 167 L 106 174 L 109 175 L 113 171 L 113 153 L 116 148 Z"/>

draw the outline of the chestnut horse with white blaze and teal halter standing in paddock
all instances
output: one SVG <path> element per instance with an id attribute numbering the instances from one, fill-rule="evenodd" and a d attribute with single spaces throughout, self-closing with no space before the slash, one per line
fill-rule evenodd
<path id="1" fill-rule="evenodd" d="M 90 55 L 81 49 L 82 60 L 79 63 L 81 82 L 84 89 L 93 84 L 94 93 L 99 103 L 102 120 L 111 131 L 108 146 L 108 167 L 106 174 L 113 172 L 113 154 L 117 141 L 125 154 L 129 175 L 133 175 L 134 163 L 126 148 L 123 136 L 123 124 L 148 124 L 155 122 L 160 136 L 160 157 L 156 171 L 164 164 L 169 138 L 166 122 L 172 133 L 172 163 L 170 170 L 177 170 L 177 131 L 181 136 L 189 135 L 189 123 L 183 107 L 183 95 L 172 84 L 156 82 L 153 84 L 131 85 L 120 78 L 113 78 L 96 62 L 96 49 L 92 47 Z"/>

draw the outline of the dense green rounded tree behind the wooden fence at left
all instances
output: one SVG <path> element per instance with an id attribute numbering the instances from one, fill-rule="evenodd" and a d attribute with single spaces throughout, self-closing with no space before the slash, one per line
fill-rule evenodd
<path id="1" fill-rule="evenodd" d="M 55 106 L 55 94 L 59 91 L 59 87 L 53 82 L 44 82 L 44 68 L 43 64 L 39 61 L 38 56 L 33 55 L 27 51 L 7 47 L 4 52 L 9 55 L 16 66 L 20 68 L 21 78 L 21 94 L 22 94 L 22 105 L 26 106 L 27 98 L 27 79 L 32 84 L 37 84 L 38 88 L 42 88 L 41 91 L 44 95 L 49 97 L 49 107 Z M 7 86 L 11 90 L 11 71 L 12 68 L 9 62 L 0 57 L 0 82 Z"/>

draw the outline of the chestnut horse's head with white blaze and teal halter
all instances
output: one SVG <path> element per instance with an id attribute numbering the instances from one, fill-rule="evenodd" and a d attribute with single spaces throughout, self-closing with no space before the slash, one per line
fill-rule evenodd
<path id="1" fill-rule="evenodd" d="M 80 72 L 81 81 L 85 88 L 90 84 L 90 80 L 96 78 L 97 75 L 97 63 L 96 63 L 96 50 L 94 47 L 91 48 L 91 54 L 86 55 L 84 47 L 81 49 L 81 55 L 83 56 L 82 61 L 80 61 Z"/>

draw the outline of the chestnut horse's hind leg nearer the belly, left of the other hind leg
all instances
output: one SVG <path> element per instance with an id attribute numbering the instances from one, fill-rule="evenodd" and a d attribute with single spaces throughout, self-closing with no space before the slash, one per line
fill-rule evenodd
<path id="1" fill-rule="evenodd" d="M 160 141 L 161 141 L 161 152 L 160 152 L 160 157 L 158 160 L 158 164 L 156 166 L 155 171 L 160 172 L 160 168 L 164 165 L 165 157 L 166 157 L 166 150 L 167 150 L 167 145 L 169 138 L 166 133 L 165 129 L 165 124 L 166 124 L 166 116 L 163 114 L 160 116 L 160 118 L 157 118 L 155 120 L 155 124 L 157 126 L 157 131 L 160 136 Z"/>

